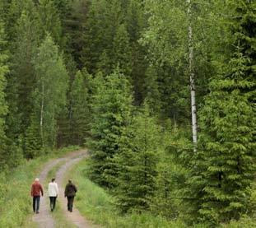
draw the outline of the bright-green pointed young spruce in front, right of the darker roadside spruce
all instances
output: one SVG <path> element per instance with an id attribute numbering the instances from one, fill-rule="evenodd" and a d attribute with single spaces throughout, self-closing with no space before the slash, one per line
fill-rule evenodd
<path id="1" fill-rule="evenodd" d="M 119 153 L 114 156 L 118 170 L 114 193 L 123 212 L 150 209 L 156 192 L 160 138 L 161 128 L 147 105 L 123 130 Z"/>

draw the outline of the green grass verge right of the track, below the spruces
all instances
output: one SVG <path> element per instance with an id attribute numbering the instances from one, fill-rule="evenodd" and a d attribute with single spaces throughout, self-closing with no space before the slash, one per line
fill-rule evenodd
<path id="1" fill-rule="evenodd" d="M 92 183 L 86 178 L 85 167 L 87 161 L 83 160 L 75 165 L 69 173 L 78 192 L 75 198 L 75 204 L 81 215 L 104 227 L 111 228 L 183 228 L 187 227 L 182 221 L 166 221 L 161 216 L 153 216 L 150 213 L 128 214 L 121 216 L 114 207 L 114 198 L 112 198 L 103 188 Z"/>

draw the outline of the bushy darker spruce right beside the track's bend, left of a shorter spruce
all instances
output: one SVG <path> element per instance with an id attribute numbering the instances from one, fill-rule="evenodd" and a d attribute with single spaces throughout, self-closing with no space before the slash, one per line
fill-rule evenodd
<path id="1" fill-rule="evenodd" d="M 132 110 L 131 86 L 116 70 L 104 80 L 95 78 L 91 123 L 91 179 L 102 186 L 112 187 L 115 166 L 111 161 L 119 152 L 119 137 L 130 120 Z"/>

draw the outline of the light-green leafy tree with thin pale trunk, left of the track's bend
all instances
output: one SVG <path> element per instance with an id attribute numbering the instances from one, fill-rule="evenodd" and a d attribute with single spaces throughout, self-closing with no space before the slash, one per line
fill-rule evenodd
<path id="1" fill-rule="evenodd" d="M 33 93 L 35 121 L 30 129 L 40 129 L 40 144 L 53 148 L 56 143 L 57 118 L 66 105 L 67 70 L 62 55 L 52 38 L 47 35 L 35 58 L 36 86 Z M 30 142 L 26 138 L 26 142 Z M 37 150 L 38 148 L 36 148 Z"/>

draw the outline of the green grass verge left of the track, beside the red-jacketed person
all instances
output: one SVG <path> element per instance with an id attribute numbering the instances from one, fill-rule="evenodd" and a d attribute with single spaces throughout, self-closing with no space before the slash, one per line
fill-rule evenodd
<path id="1" fill-rule="evenodd" d="M 45 162 L 77 148 L 68 147 L 35 160 L 24 160 L 10 174 L 0 174 L 0 227 L 35 227 L 27 219 L 31 214 L 30 185 L 33 179 L 40 173 Z"/>

